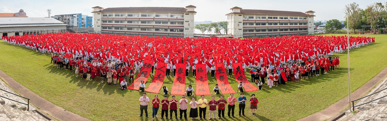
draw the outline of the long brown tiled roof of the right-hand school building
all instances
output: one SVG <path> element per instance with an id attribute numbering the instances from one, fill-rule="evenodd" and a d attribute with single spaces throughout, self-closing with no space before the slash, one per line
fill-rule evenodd
<path id="1" fill-rule="evenodd" d="M 302 15 L 302 16 L 314 16 L 305 14 L 303 12 L 295 11 L 281 11 L 281 10 L 252 10 L 252 9 L 241 9 L 240 12 L 232 12 L 229 14 L 269 14 L 269 15 Z M 226 14 L 228 15 L 228 14 Z"/>

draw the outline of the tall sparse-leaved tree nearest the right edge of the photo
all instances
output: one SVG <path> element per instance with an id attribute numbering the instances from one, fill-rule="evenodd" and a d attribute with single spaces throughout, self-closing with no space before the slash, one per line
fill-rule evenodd
<path id="1" fill-rule="evenodd" d="M 368 24 L 371 24 L 371 29 L 373 30 L 373 34 L 377 32 L 377 22 L 378 19 L 382 16 L 382 11 L 384 10 L 384 5 L 382 3 L 373 3 L 371 5 L 367 5 L 366 16 Z"/>

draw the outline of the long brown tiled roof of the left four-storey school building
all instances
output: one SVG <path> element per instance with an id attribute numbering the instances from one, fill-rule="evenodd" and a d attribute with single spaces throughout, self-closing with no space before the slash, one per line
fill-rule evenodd
<path id="1" fill-rule="evenodd" d="M 117 7 L 106 8 L 98 12 L 187 12 L 183 7 Z"/>

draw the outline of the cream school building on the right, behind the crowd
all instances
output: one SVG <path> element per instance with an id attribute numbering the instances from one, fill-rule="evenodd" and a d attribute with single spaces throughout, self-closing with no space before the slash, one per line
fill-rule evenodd
<path id="1" fill-rule="evenodd" d="M 306 35 L 314 33 L 313 11 L 252 10 L 233 7 L 227 15 L 228 33 L 235 38 Z"/>

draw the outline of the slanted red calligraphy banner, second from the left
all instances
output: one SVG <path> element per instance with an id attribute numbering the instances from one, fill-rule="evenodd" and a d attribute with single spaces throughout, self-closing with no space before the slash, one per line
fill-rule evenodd
<path id="1" fill-rule="evenodd" d="M 153 80 L 148 86 L 148 89 L 145 92 L 159 93 L 161 86 L 164 83 L 165 71 L 167 68 L 167 63 L 157 62 L 156 73 L 154 73 Z"/>

